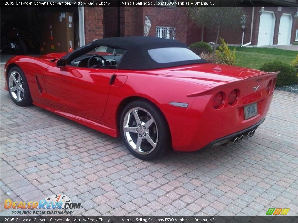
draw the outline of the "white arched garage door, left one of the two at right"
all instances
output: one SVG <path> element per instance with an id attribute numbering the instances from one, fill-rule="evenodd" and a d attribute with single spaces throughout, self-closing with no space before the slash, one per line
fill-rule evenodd
<path id="1" fill-rule="evenodd" d="M 260 17 L 258 46 L 273 45 L 275 17 L 271 12 L 263 12 Z"/>

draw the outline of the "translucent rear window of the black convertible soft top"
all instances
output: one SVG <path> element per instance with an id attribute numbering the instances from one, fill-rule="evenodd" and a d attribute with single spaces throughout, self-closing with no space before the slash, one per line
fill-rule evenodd
<path id="1" fill-rule="evenodd" d="M 165 47 L 148 50 L 151 58 L 157 63 L 172 63 L 187 60 L 200 60 L 201 57 L 183 47 Z"/>

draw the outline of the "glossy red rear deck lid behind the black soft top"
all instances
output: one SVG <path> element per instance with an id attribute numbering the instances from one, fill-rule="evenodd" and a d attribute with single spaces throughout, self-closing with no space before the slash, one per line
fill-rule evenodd
<path id="1" fill-rule="evenodd" d="M 267 72 L 229 65 L 204 63 L 170 69 L 170 72 L 161 75 L 181 78 L 184 81 L 198 82 L 202 85 L 210 85 L 217 82 L 230 82 L 235 79 L 242 79 L 263 73 Z"/>

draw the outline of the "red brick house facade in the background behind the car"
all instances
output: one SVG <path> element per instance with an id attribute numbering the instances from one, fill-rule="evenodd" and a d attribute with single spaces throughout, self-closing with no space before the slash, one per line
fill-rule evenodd
<path id="1" fill-rule="evenodd" d="M 279 41 L 279 36 L 282 36 L 280 34 L 282 29 L 279 29 L 281 20 L 282 27 L 286 24 L 291 32 L 291 35 L 288 34 L 290 35 L 289 41 L 283 45 L 298 41 L 298 31 L 296 31 L 298 30 L 297 7 L 269 5 L 264 7 L 261 14 L 262 6 L 258 3 L 254 7 L 251 5 L 243 7 L 246 14 L 244 44 L 250 43 L 252 46 L 282 45 L 281 43 L 285 43 L 285 38 L 288 37 L 283 35 L 284 41 Z M 187 7 L 84 7 L 85 42 L 88 43 L 93 39 L 103 37 L 142 36 L 144 34 L 145 16 L 148 16 L 151 21 L 149 36 L 174 37 L 188 45 L 201 41 L 201 27 L 189 20 Z M 252 16 L 254 18 L 253 23 Z M 251 29 L 252 24 L 253 28 Z M 272 24 L 271 31 L 265 30 L 266 24 Z M 266 33 L 262 34 L 263 29 Z M 271 42 L 269 41 L 269 34 L 271 35 Z M 241 26 L 222 29 L 219 36 L 229 44 L 242 45 Z M 214 42 L 216 32 L 208 27 L 204 28 L 203 37 L 205 42 Z"/>

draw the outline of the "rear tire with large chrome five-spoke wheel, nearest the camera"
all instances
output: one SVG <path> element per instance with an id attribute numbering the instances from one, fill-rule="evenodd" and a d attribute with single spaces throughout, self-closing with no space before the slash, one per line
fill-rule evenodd
<path id="1" fill-rule="evenodd" d="M 120 133 L 128 150 L 142 160 L 163 155 L 170 147 L 169 127 L 153 103 L 137 100 L 121 113 Z"/>

